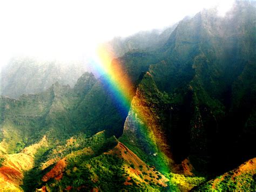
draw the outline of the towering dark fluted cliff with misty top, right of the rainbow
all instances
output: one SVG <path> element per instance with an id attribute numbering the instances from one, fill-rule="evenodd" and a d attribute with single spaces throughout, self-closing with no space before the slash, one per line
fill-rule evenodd
<path id="1" fill-rule="evenodd" d="M 143 65 L 158 90 L 167 93 L 167 130 L 177 163 L 187 157 L 191 162 L 203 159 L 202 171 L 213 173 L 255 155 L 253 22 L 255 8 L 250 3 L 238 2 L 226 17 L 219 17 L 214 9 L 204 10 L 181 21 L 164 46 L 147 53 L 159 62 L 152 59 L 144 64 L 140 57 L 136 63 L 131 53 L 120 58 L 125 64 Z M 130 66 L 126 68 L 129 72 Z"/>

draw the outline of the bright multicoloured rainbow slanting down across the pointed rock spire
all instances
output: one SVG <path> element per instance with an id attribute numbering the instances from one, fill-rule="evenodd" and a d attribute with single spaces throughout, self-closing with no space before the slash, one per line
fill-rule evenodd
<path id="1" fill-rule="evenodd" d="M 132 104 L 133 94 L 132 94 L 132 83 L 129 76 L 125 73 L 123 65 L 119 63 L 118 59 L 115 59 L 114 53 L 107 50 L 106 47 L 100 45 L 95 54 L 94 58 L 94 65 L 96 65 L 97 71 L 99 74 L 105 74 L 105 80 L 109 84 L 109 88 L 111 89 L 112 93 L 114 93 L 114 100 L 118 102 L 119 106 L 125 109 L 126 112 L 130 111 L 130 107 Z M 135 101 L 136 102 L 136 101 Z M 154 143 L 161 143 L 163 142 L 161 139 L 156 138 L 156 136 L 149 133 L 152 127 L 149 121 L 149 113 L 145 111 L 143 107 L 136 107 L 132 108 L 133 112 L 136 114 L 137 118 L 143 121 L 143 127 L 141 128 L 141 132 L 146 137 L 152 139 Z M 157 144 L 157 145 L 158 145 Z M 162 159 L 170 159 L 168 158 L 164 152 L 161 152 L 160 149 L 159 157 Z M 169 160 L 167 160 L 169 161 Z M 170 163 L 167 163 L 170 164 Z M 166 168 L 165 168 L 166 169 Z M 169 167 L 167 167 L 167 172 L 170 173 Z"/>

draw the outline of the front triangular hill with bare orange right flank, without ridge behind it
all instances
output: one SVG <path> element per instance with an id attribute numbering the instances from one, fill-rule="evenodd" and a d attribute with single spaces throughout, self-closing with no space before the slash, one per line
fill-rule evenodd
<path id="1" fill-rule="evenodd" d="M 97 138 L 99 140 L 103 136 L 104 133 L 98 133 L 92 139 Z M 42 177 L 42 188 L 47 190 L 94 189 L 109 191 L 124 189 L 153 190 L 154 188 L 167 187 L 166 182 L 168 180 L 164 175 L 147 166 L 137 155 L 116 139 L 108 139 L 107 146 L 101 146 L 100 141 L 97 144 L 98 148 L 109 150 L 104 152 L 104 149 L 98 149 L 103 150 L 103 153 L 97 155 L 97 150 L 89 147 L 86 150 L 82 149 L 76 153 L 66 155 Z M 63 164 L 62 167 L 66 167 L 65 170 L 63 168 L 59 169 L 60 163 Z M 102 163 L 104 168 L 99 167 Z M 51 178 L 54 178 L 54 180 L 50 180 Z"/>

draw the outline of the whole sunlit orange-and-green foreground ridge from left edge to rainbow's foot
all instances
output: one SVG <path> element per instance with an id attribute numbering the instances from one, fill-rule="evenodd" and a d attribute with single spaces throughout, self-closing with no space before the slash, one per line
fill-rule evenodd
<path id="1" fill-rule="evenodd" d="M 105 191 L 167 187 L 169 180 L 164 175 L 116 138 L 106 138 L 104 131 L 91 138 L 84 136 L 72 137 L 50 150 L 44 136 L 42 141 L 17 154 L 5 155 L 0 173 L 8 179 L 1 182 L 1 189 Z"/>

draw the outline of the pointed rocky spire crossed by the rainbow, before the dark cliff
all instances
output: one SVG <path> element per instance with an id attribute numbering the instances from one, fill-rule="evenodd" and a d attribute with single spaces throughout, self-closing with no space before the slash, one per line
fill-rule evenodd
<path id="1" fill-rule="evenodd" d="M 160 161 L 169 169 L 173 167 L 173 160 L 167 129 L 169 105 L 165 99 L 151 74 L 145 73 L 131 102 L 120 141 L 149 155 L 156 167 Z"/>

